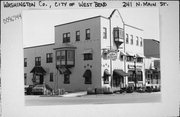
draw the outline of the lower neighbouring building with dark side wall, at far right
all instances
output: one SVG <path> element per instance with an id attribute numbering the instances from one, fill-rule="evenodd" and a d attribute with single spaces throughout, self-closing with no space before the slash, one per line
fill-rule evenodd
<path id="1" fill-rule="evenodd" d="M 161 84 L 159 49 L 159 41 L 144 39 L 146 86 L 159 87 Z"/>

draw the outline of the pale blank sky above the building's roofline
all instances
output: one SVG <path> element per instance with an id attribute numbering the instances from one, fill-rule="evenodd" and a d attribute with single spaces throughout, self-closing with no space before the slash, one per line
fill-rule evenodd
<path id="1" fill-rule="evenodd" d="M 54 43 L 54 26 L 93 16 L 109 17 L 114 9 L 66 9 L 23 11 L 23 46 Z M 118 9 L 126 24 L 143 29 L 145 39 L 159 41 L 158 8 Z"/>

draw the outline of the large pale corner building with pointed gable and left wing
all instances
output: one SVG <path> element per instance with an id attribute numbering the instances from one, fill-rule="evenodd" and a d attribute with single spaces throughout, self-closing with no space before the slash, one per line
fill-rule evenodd
<path id="1" fill-rule="evenodd" d="M 25 84 L 54 90 L 145 85 L 142 29 L 118 10 L 55 26 L 55 43 L 24 48 Z"/>

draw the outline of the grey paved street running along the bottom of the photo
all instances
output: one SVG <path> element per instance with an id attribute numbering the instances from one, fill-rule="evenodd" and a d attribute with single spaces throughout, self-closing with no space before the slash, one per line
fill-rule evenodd
<path id="1" fill-rule="evenodd" d="M 118 104 L 160 102 L 161 93 L 130 93 L 110 95 L 85 95 L 80 97 L 40 97 L 25 96 L 25 104 L 31 105 L 70 105 L 70 104 Z"/>

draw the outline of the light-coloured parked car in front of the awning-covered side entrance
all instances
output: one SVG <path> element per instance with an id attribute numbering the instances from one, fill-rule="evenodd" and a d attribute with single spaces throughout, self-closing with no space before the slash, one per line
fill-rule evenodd
<path id="1" fill-rule="evenodd" d="M 49 87 L 47 84 L 38 84 L 33 87 L 32 94 L 34 95 L 45 95 L 52 92 L 52 88 Z"/>

